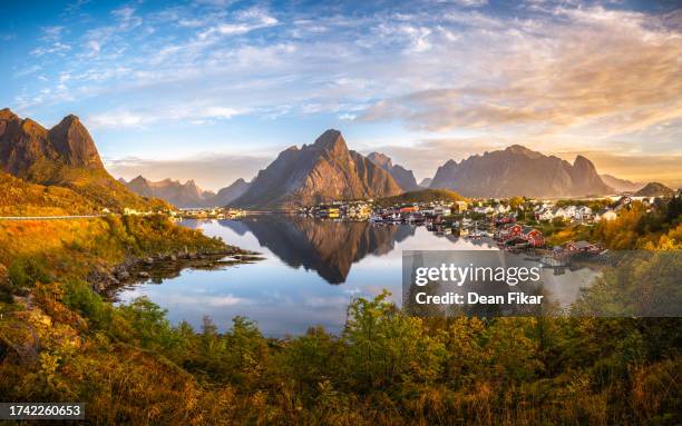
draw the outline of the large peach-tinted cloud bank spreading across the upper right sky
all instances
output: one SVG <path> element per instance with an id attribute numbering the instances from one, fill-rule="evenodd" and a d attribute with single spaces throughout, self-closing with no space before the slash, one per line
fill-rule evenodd
<path id="1" fill-rule="evenodd" d="M 431 131 L 533 125 L 612 136 L 682 117 L 681 33 L 636 12 L 554 13 L 559 23 L 532 33 L 510 22 L 512 37 L 490 36 L 495 57 L 478 55 L 469 65 L 480 69 L 477 81 L 381 99 L 360 119 L 400 119 Z"/>

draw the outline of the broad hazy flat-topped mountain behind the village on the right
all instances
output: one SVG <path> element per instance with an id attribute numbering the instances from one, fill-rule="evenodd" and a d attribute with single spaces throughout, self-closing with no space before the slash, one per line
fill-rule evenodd
<path id="1" fill-rule="evenodd" d="M 465 197 L 583 197 L 614 191 L 583 156 L 572 165 L 519 145 L 461 162 L 449 160 L 438 168 L 430 187 Z"/>

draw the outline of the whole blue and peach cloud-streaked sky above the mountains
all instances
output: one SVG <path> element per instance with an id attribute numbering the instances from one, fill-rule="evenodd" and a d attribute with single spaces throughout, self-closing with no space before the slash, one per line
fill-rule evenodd
<path id="1" fill-rule="evenodd" d="M 253 178 L 342 131 L 432 177 L 520 143 L 682 187 L 682 2 L 2 1 L 0 108 L 130 179 Z"/>

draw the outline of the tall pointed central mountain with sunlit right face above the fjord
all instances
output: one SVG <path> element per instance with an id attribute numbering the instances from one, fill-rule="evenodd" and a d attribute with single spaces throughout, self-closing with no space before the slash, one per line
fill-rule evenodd
<path id="1" fill-rule="evenodd" d="M 400 186 L 388 171 L 349 150 L 340 131 L 327 130 L 312 145 L 280 152 L 270 166 L 259 171 L 234 205 L 291 208 L 400 192 Z"/>

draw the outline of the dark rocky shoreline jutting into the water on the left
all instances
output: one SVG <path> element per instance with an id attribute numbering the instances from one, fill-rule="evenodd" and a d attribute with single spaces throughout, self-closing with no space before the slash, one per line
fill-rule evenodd
<path id="1" fill-rule="evenodd" d="M 128 256 L 114 266 L 94 267 L 86 278 L 92 290 L 113 299 L 116 291 L 125 286 L 144 283 L 148 279 L 160 283 L 174 278 L 183 269 L 216 269 L 230 265 L 249 264 L 261 260 L 259 252 L 227 247 L 223 250 L 179 251 L 156 254 L 146 257 Z"/>

